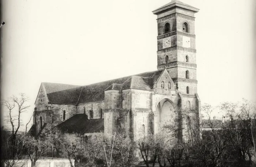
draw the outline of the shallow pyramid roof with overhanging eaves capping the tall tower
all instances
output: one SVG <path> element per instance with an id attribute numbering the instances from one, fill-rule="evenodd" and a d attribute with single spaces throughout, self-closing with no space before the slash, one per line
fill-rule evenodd
<path id="1" fill-rule="evenodd" d="M 199 11 L 198 8 L 195 8 L 191 5 L 185 4 L 185 3 L 181 2 L 181 1 L 178 1 L 178 0 L 172 0 L 170 3 L 167 3 L 163 6 L 161 6 L 160 8 L 155 9 L 153 11 L 153 13 L 156 14 L 158 12 L 164 11 L 164 10 L 172 8 L 174 6 L 182 7 L 182 8 L 185 8 L 185 9 L 190 9 L 190 10 L 195 11 L 195 12 Z"/>

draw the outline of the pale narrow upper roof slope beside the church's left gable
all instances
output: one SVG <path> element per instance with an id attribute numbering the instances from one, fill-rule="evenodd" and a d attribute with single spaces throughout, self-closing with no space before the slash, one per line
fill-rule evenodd
<path id="1" fill-rule="evenodd" d="M 79 87 L 78 85 L 68 85 L 68 84 L 62 84 L 62 83 L 49 83 L 49 82 L 42 82 L 42 86 L 44 86 L 46 94 Z"/>

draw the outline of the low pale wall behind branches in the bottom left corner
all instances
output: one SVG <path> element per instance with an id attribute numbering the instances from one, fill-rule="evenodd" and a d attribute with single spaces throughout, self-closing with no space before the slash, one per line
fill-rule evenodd
<path id="1" fill-rule="evenodd" d="M 72 159 L 72 164 L 75 166 L 75 160 Z M 36 167 L 70 167 L 70 162 L 68 159 L 61 159 L 61 158 L 48 158 L 44 157 L 42 159 L 38 159 L 36 163 Z M 4 167 L 7 165 L 4 163 Z M 31 167 L 31 160 L 29 159 L 22 159 L 18 160 L 17 163 L 13 167 Z"/>

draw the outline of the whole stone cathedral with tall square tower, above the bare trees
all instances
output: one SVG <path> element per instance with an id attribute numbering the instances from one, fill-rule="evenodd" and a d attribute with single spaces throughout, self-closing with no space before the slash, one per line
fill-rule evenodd
<path id="1" fill-rule="evenodd" d="M 41 83 L 31 130 L 35 135 L 47 126 L 84 135 L 123 130 L 138 139 L 142 133 L 163 131 L 167 124 L 184 125 L 187 120 L 178 119 L 179 108 L 195 108 L 194 116 L 199 117 L 194 16 L 198 11 L 178 0 L 153 11 L 158 25 L 156 71 L 85 86 Z"/>

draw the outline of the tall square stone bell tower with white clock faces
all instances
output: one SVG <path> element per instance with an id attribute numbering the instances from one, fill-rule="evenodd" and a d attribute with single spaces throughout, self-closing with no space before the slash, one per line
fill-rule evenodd
<path id="1" fill-rule="evenodd" d="M 153 11 L 157 15 L 157 69 L 167 69 L 178 91 L 197 93 L 195 17 L 199 9 L 172 0 Z"/>

